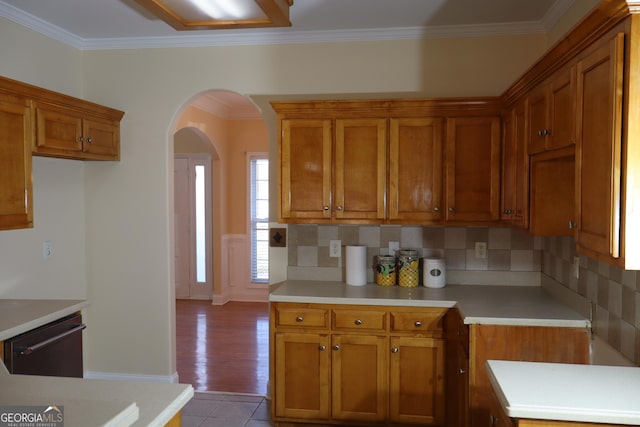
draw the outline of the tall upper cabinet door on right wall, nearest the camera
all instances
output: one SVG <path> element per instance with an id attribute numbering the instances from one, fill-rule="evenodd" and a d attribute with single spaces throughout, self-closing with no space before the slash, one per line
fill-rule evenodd
<path id="1" fill-rule="evenodd" d="M 624 35 L 578 61 L 576 215 L 578 251 L 620 256 Z"/>

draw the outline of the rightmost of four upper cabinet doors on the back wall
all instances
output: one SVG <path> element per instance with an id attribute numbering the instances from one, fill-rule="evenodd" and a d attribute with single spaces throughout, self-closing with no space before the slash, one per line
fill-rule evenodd
<path id="1" fill-rule="evenodd" d="M 500 118 L 447 119 L 447 221 L 500 217 Z"/>

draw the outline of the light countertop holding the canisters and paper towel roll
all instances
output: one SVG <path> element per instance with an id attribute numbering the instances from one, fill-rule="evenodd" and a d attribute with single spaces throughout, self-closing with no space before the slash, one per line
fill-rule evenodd
<path id="1" fill-rule="evenodd" d="M 318 304 L 457 307 L 466 324 L 590 327 L 589 319 L 539 286 L 447 285 L 402 288 L 290 280 L 269 301 Z"/>

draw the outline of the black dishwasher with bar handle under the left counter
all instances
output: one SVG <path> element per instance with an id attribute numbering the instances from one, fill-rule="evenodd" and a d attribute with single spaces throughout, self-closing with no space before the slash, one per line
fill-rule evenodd
<path id="1" fill-rule="evenodd" d="M 71 314 L 4 342 L 12 374 L 82 378 L 82 316 Z"/>

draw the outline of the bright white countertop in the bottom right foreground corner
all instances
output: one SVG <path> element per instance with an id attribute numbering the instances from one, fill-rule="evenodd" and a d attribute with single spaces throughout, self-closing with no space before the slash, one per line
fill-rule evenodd
<path id="1" fill-rule="evenodd" d="M 487 362 L 511 418 L 640 425 L 640 367 Z"/>

